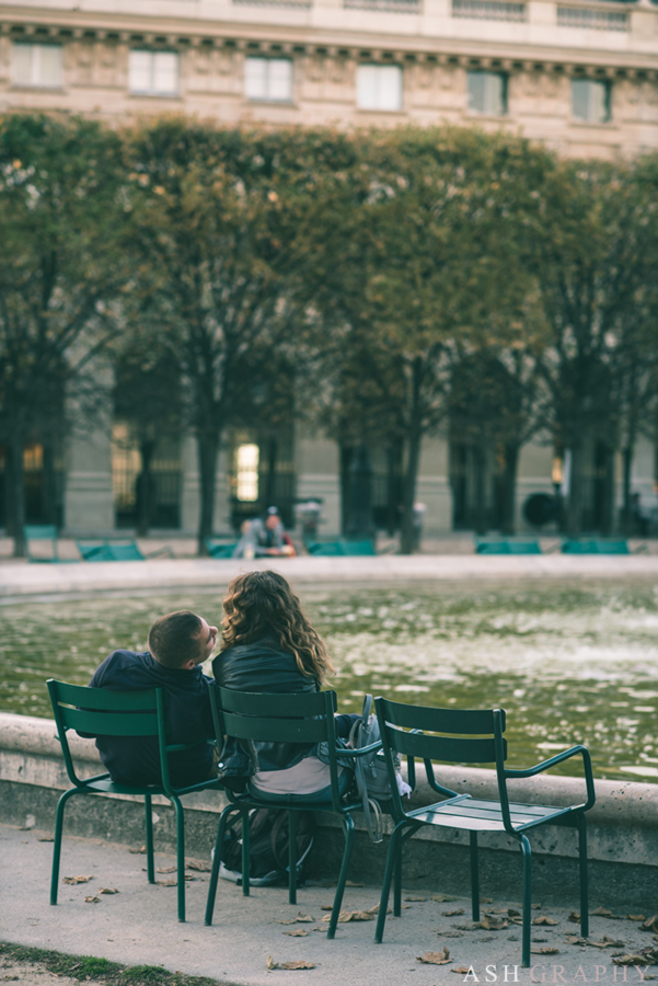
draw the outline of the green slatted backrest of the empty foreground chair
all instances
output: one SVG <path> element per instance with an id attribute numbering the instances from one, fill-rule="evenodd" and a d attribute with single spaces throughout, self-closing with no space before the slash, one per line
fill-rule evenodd
<path id="1" fill-rule="evenodd" d="M 503 768 L 507 758 L 505 711 L 477 709 L 435 709 L 407 706 L 388 699 L 374 700 L 384 754 L 392 750 L 409 758 L 409 777 L 415 777 L 413 758 L 425 761 L 428 780 L 434 781 L 431 760 L 449 764 L 496 764 Z M 411 732 L 406 732 L 406 731 Z M 424 731 L 414 732 L 417 730 Z M 425 735 L 440 733 L 442 735 Z M 452 793 L 449 789 L 441 789 Z M 397 787 L 391 786 L 397 814 L 404 814 Z"/>

